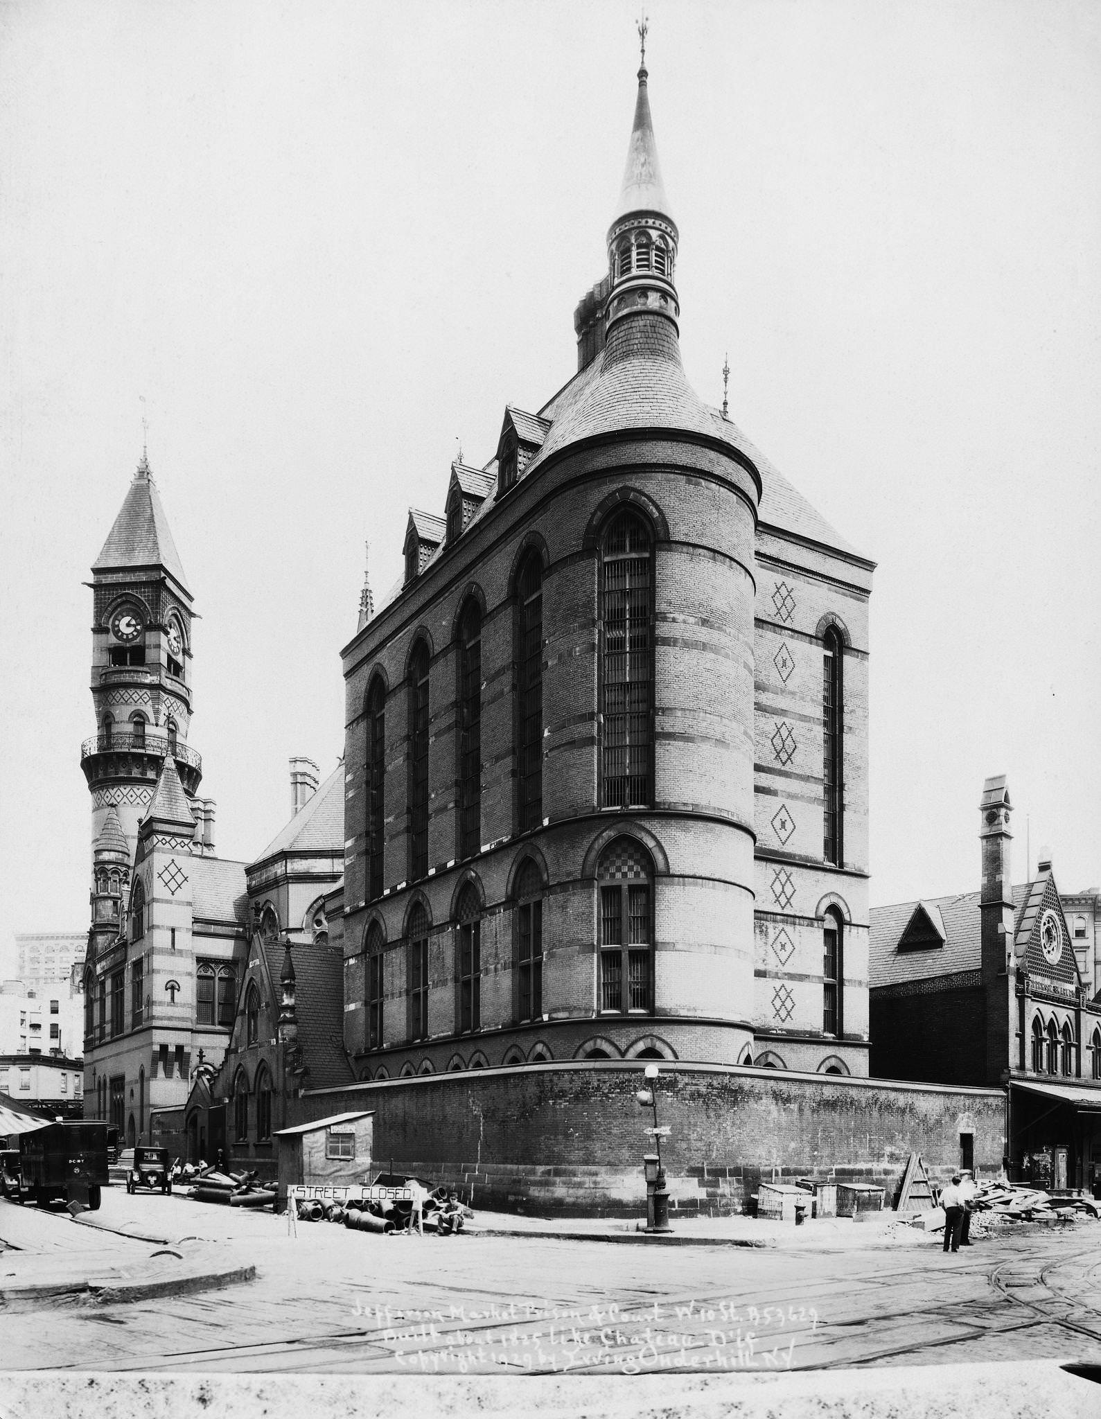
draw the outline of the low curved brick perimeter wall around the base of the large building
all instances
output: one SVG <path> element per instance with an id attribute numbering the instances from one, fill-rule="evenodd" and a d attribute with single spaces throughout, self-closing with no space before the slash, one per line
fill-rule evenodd
<path id="1" fill-rule="evenodd" d="M 648 1114 L 643 1061 L 478 1070 L 306 1094 L 301 1121 L 375 1110 L 375 1159 L 472 1193 L 475 1208 L 637 1212 Z M 658 1117 L 678 1209 L 742 1210 L 762 1179 L 877 1182 L 894 1198 L 911 1151 L 934 1176 L 975 1138 L 980 1172 L 1002 1164 L 1000 1090 L 952 1090 L 833 1076 L 663 1066 Z"/>

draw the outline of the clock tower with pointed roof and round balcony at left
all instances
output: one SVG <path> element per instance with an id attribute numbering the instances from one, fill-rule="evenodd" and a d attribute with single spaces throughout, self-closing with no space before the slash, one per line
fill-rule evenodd
<path id="1" fill-rule="evenodd" d="M 115 833 L 125 836 L 132 863 L 166 758 L 189 799 L 203 775 L 187 746 L 192 593 L 145 454 L 89 585 L 96 732 L 81 746 L 81 768 L 92 795 L 92 843 L 114 806 Z"/>

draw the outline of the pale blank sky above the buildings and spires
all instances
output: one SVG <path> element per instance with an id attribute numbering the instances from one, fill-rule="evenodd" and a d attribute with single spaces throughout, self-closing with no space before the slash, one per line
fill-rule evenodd
<path id="1" fill-rule="evenodd" d="M 979 883 L 1006 773 L 1101 883 L 1101 7 L 653 0 L 688 377 L 853 545 L 871 900 Z M 91 563 L 142 453 L 221 856 L 343 742 L 409 505 L 576 368 L 637 7 L 0 0 L 0 975 L 88 921 Z"/>

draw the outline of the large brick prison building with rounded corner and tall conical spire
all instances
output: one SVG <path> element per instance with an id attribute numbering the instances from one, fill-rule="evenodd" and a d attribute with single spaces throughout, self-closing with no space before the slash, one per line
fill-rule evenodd
<path id="1" fill-rule="evenodd" d="M 867 1074 L 873 563 L 688 386 L 678 240 L 643 68 L 576 375 L 410 512 L 343 651 L 362 1078 Z"/>

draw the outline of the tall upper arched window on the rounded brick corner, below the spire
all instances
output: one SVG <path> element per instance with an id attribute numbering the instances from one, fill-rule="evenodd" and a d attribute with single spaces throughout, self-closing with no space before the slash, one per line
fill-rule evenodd
<path id="1" fill-rule="evenodd" d="M 653 799 L 653 541 L 626 509 L 609 526 L 600 576 L 602 805 Z"/>

